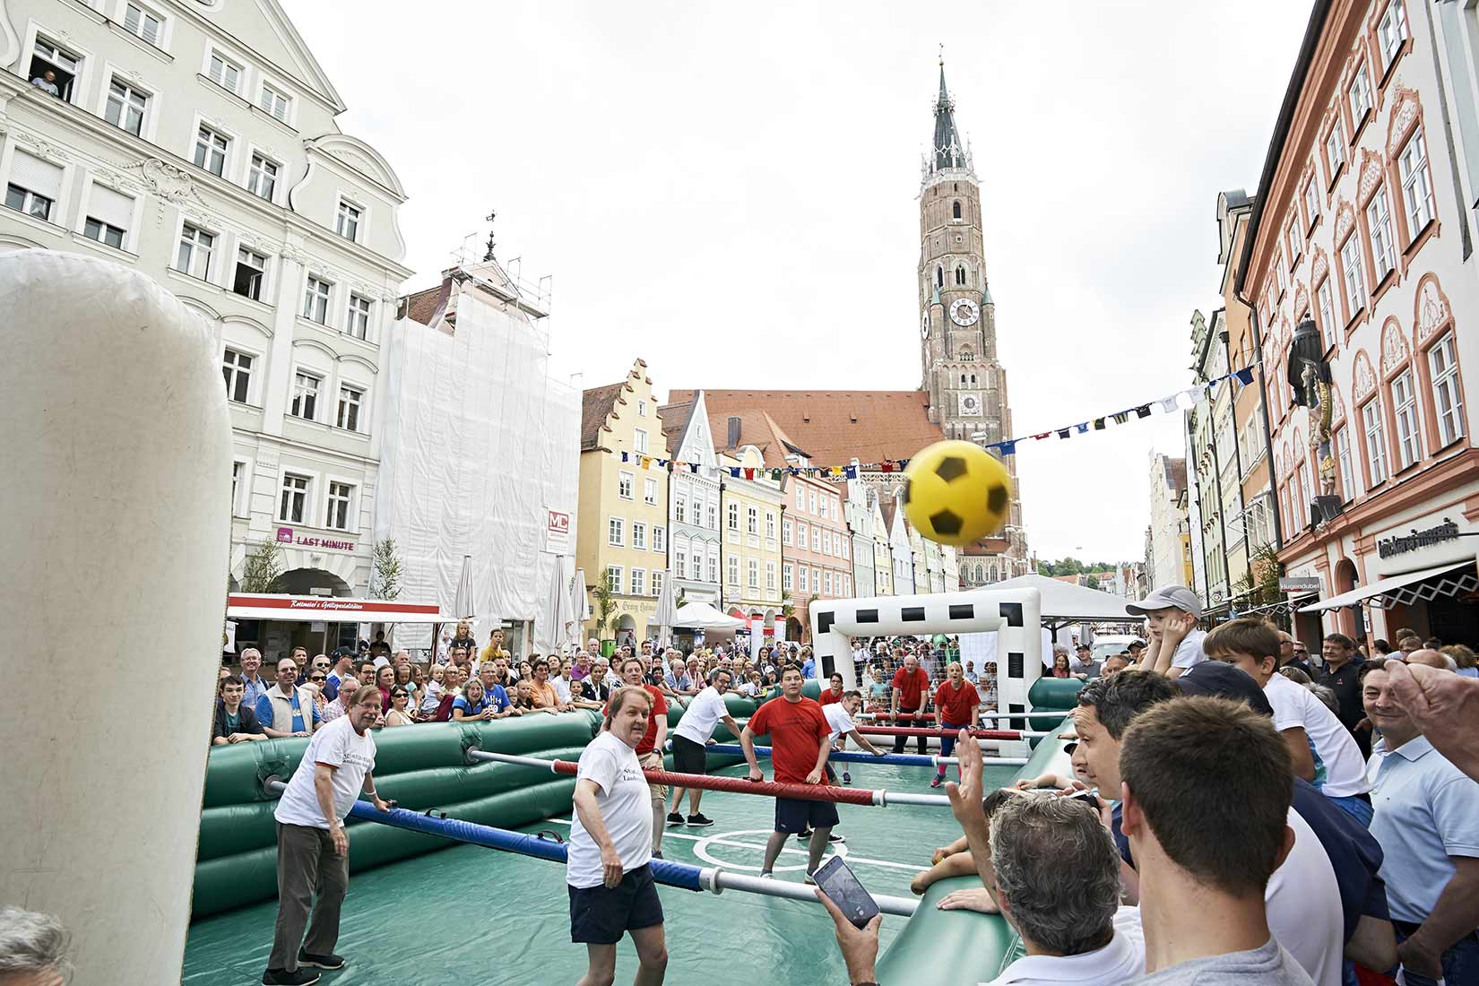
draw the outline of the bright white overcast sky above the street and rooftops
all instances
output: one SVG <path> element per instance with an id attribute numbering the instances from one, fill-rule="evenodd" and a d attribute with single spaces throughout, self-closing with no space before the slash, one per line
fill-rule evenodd
<path id="1" fill-rule="evenodd" d="M 936 46 L 981 179 L 1015 432 L 1191 383 L 1217 192 L 1259 180 L 1309 10 L 1186 3 L 284 0 L 411 198 L 424 287 L 498 211 L 556 367 L 670 387 L 920 383 Z M 414 10 L 414 16 L 411 15 Z M 352 12 L 352 13 L 351 13 Z M 481 257 L 481 253 L 476 254 Z M 476 259 L 473 257 L 473 259 Z M 1019 446 L 1029 547 L 1136 559 L 1176 417 Z"/>

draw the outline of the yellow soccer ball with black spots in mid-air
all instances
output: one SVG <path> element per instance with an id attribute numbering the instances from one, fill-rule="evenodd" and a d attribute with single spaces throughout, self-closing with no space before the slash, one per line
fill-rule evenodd
<path id="1" fill-rule="evenodd" d="M 1001 531 L 1012 504 L 1012 476 L 970 442 L 936 442 L 904 470 L 904 516 L 939 544 L 970 544 Z"/>

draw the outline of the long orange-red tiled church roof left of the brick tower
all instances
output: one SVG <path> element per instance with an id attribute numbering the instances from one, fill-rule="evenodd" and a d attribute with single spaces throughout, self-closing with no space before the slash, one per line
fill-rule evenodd
<path id="1" fill-rule="evenodd" d="M 694 393 L 673 390 L 669 402 L 685 404 Z M 923 390 L 705 389 L 704 402 L 716 445 L 728 438 L 731 417 L 741 418 L 741 443 L 759 445 L 750 436 L 765 435 L 765 429 L 756 421 L 751 432 L 747 412 L 763 412 L 778 432 L 776 454 L 784 458 L 784 445 L 806 449 L 803 454 L 816 466 L 846 466 L 853 458 L 859 463 L 910 458 L 945 438 L 929 420 L 929 395 Z"/>

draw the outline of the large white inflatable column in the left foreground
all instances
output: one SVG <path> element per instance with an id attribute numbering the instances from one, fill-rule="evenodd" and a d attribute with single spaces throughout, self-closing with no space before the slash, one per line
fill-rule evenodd
<path id="1" fill-rule="evenodd" d="M 0 888 L 78 983 L 177 983 L 225 619 L 211 328 L 148 276 L 0 254 Z"/>

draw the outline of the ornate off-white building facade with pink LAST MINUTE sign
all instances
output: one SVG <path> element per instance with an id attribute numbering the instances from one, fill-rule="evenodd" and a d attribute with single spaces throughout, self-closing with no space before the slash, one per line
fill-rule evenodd
<path id="1" fill-rule="evenodd" d="M 272 541 L 282 591 L 364 594 L 405 191 L 281 6 L 9 0 L 0 68 L 0 250 L 139 268 L 207 319 L 232 579 Z"/>

